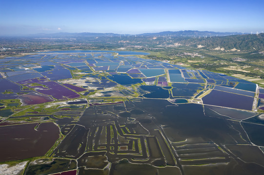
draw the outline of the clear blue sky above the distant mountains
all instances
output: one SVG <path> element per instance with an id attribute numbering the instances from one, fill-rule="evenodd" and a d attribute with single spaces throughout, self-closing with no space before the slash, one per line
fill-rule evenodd
<path id="1" fill-rule="evenodd" d="M 1 0 L 0 35 L 264 31 L 264 0 Z"/>

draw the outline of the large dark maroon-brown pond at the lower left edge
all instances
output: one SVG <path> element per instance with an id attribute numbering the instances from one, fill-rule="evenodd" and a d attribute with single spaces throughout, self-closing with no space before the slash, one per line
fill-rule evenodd
<path id="1" fill-rule="evenodd" d="M 9 125 L 0 127 L 0 161 L 44 156 L 59 139 L 60 130 L 54 123 Z M 6 137 L 8 135 L 8 137 Z"/>

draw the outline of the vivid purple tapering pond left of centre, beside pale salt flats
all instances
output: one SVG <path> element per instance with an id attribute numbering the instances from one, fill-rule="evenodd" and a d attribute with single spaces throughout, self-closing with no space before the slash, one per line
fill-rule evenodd
<path id="1" fill-rule="evenodd" d="M 46 94 L 46 95 L 51 95 L 52 97 L 59 99 L 59 100 L 66 99 L 66 98 L 77 98 L 80 96 L 74 91 L 63 87 L 56 82 L 50 81 L 50 82 L 42 82 L 40 84 L 45 85 L 49 89 L 48 90 L 36 89 L 38 92 L 42 94 Z"/>

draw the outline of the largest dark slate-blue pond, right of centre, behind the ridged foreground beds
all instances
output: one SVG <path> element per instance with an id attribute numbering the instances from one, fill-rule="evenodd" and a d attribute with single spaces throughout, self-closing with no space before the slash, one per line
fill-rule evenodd
<path id="1" fill-rule="evenodd" d="M 221 144 L 236 143 L 230 136 L 235 137 L 239 132 L 230 127 L 227 120 L 204 116 L 203 105 L 172 105 L 166 100 L 157 99 L 144 99 L 134 103 L 143 110 L 150 112 L 160 124 L 175 128 L 183 138 L 202 137 L 205 140 L 213 140 Z M 238 127 L 240 127 L 239 124 Z M 244 142 L 237 136 L 236 141 Z"/>

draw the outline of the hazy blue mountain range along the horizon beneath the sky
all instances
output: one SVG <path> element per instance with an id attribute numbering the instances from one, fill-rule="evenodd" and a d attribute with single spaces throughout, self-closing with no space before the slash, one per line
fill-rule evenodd
<path id="1" fill-rule="evenodd" d="M 189 37 L 204 37 L 204 36 L 229 36 L 229 35 L 243 35 L 244 33 L 238 32 L 208 32 L 208 31 L 178 31 L 178 32 L 159 32 L 159 33 L 145 33 L 137 34 L 137 36 L 189 36 Z M 247 33 L 245 33 L 247 34 Z M 100 37 L 100 36 L 123 36 L 130 34 L 114 34 L 114 33 L 55 33 L 55 34 L 34 34 L 28 35 L 31 37 Z"/>

